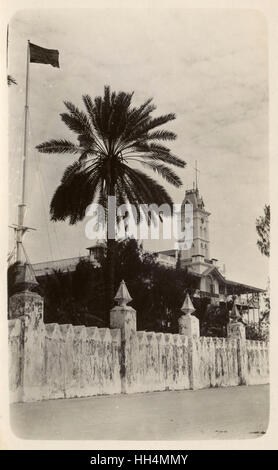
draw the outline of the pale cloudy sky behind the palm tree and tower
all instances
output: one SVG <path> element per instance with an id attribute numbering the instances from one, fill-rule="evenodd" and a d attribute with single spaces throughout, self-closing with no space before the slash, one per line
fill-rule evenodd
<path id="1" fill-rule="evenodd" d="M 134 91 L 134 104 L 152 97 L 157 114 L 174 112 L 173 153 L 183 158 L 182 202 L 200 169 L 199 189 L 210 215 L 211 257 L 229 279 L 264 288 L 267 259 L 259 252 L 256 218 L 269 202 L 268 43 L 255 10 L 61 9 L 19 11 L 9 26 L 9 219 L 17 220 L 23 149 L 27 40 L 58 49 L 60 69 L 30 64 L 30 125 L 25 235 L 31 262 L 85 255 L 93 244 L 84 220 L 49 220 L 49 203 L 71 156 L 44 155 L 35 146 L 71 138 L 59 114 L 63 101 L 82 107 L 82 95 Z M 10 233 L 12 246 L 13 236 Z M 146 249 L 171 248 L 147 241 Z"/>

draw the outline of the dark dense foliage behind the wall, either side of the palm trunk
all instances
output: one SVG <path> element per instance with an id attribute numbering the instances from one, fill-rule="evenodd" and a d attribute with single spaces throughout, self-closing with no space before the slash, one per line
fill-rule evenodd
<path id="1" fill-rule="evenodd" d="M 135 239 L 117 243 L 116 286 L 124 279 L 137 311 L 139 330 L 178 331 L 185 295 L 196 278 L 182 269 L 166 268 Z M 105 310 L 105 258 L 100 267 L 81 260 L 73 272 L 54 271 L 39 278 L 46 323 L 109 326 Z M 199 307 L 198 307 L 199 308 Z M 164 324 L 165 321 L 165 324 Z M 169 326 L 168 323 L 170 324 Z"/>

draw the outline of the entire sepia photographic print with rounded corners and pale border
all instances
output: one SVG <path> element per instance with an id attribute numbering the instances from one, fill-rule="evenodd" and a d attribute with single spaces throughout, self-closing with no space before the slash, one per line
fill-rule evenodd
<path id="1" fill-rule="evenodd" d="M 268 19 L 91 3 L 5 25 L 11 433 L 255 448 L 270 420 Z"/>

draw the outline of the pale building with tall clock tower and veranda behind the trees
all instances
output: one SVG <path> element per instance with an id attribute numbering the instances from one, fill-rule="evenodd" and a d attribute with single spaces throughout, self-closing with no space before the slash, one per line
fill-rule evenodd
<path id="1" fill-rule="evenodd" d="M 247 323 L 259 321 L 259 294 L 262 289 L 226 279 L 218 260 L 210 257 L 209 216 L 198 188 L 185 191 L 184 204 L 193 206 L 193 241 L 187 250 L 167 250 L 158 253 L 158 260 L 165 266 L 187 269 L 197 278 L 195 297 L 206 297 L 210 303 L 220 305 L 235 301 Z M 185 221 L 182 219 L 182 229 Z"/>

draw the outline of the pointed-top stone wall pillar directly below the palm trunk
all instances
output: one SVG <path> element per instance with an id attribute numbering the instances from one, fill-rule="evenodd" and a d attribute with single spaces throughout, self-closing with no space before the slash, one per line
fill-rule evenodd
<path id="1" fill-rule="evenodd" d="M 110 328 L 121 330 L 121 389 L 122 393 L 136 390 L 138 342 L 136 311 L 127 305 L 132 300 L 122 281 L 115 296 L 117 306 L 110 311 Z"/>

